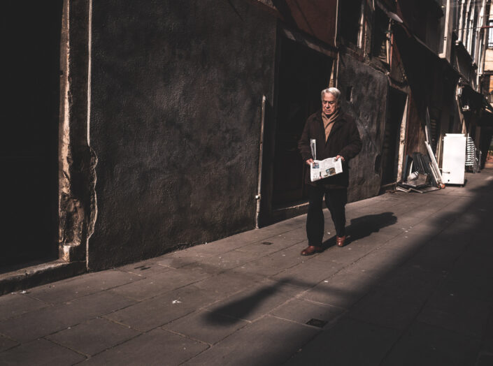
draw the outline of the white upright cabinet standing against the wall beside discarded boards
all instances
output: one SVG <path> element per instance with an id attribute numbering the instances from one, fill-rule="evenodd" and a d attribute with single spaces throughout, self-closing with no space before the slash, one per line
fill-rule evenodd
<path id="1" fill-rule="evenodd" d="M 464 184 L 466 136 L 447 133 L 443 138 L 442 178 L 445 184 Z"/>

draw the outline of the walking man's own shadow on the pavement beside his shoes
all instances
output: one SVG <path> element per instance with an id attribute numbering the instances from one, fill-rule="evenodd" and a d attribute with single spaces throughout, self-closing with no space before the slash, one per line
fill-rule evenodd
<path id="1" fill-rule="evenodd" d="M 382 212 L 381 214 L 368 214 L 356 219 L 351 219 L 351 224 L 346 226 L 345 246 L 363 237 L 370 236 L 372 233 L 378 233 L 381 228 L 393 225 L 397 222 L 394 212 Z M 336 245 L 336 236 L 330 237 L 322 244 L 324 249 Z"/>

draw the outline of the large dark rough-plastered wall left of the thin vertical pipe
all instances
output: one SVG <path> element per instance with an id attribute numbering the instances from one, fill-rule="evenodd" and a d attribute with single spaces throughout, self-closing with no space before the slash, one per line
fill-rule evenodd
<path id="1" fill-rule="evenodd" d="M 254 227 L 275 44 L 243 0 L 93 3 L 90 269 Z"/>

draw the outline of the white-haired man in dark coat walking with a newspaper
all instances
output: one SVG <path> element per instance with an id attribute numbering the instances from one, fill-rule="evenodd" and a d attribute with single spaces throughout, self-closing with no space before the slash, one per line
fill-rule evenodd
<path id="1" fill-rule="evenodd" d="M 306 235 L 308 247 L 301 251 L 302 256 L 309 256 L 320 251 L 324 237 L 324 214 L 322 200 L 330 211 L 334 226 L 336 226 L 336 243 L 344 246 L 345 233 L 345 204 L 348 202 L 349 161 L 362 148 L 362 141 L 354 119 L 340 109 L 341 92 L 336 88 L 322 90 L 322 110 L 318 110 L 306 120 L 305 128 L 298 142 L 298 148 L 303 161 L 310 166 L 313 155 L 310 149 L 310 139 L 316 140 L 317 160 L 330 157 L 341 159 L 343 173 L 331 177 L 310 181 L 310 170 L 307 169 L 305 181 L 308 184 L 308 216 L 306 217 Z"/>

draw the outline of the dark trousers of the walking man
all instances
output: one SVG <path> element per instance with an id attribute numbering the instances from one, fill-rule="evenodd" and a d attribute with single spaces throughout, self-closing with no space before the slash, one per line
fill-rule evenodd
<path id="1" fill-rule="evenodd" d="M 306 217 L 306 235 L 308 245 L 320 247 L 324 237 L 324 213 L 322 200 L 330 211 L 336 226 L 336 235 L 345 235 L 345 204 L 348 203 L 348 189 L 324 189 L 322 186 L 308 186 L 308 215 Z"/>

